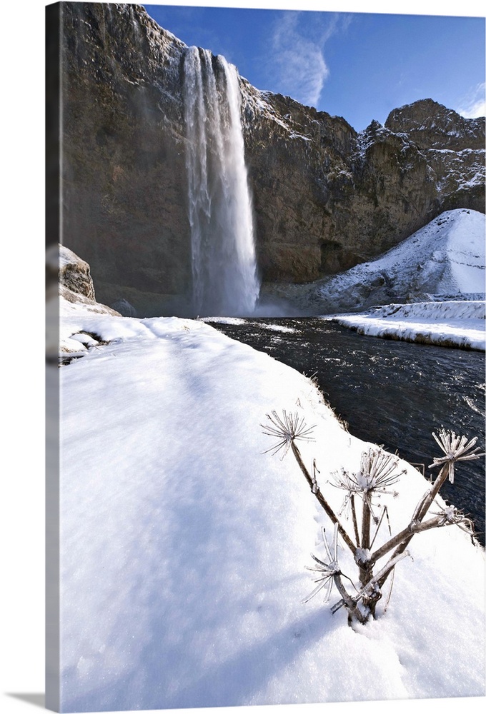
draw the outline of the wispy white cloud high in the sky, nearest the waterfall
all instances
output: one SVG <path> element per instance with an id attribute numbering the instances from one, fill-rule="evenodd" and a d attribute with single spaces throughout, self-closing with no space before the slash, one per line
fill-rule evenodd
<path id="1" fill-rule="evenodd" d="M 316 16 L 305 11 L 282 12 L 274 26 L 267 64 L 275 91 L 311 106 L 317 105 L 329 76 L 324 45 L 342 23 L 337 14 L 326 14 L 319 21 Z M 349 24 L 349 19 L 345 21 Z"/>

